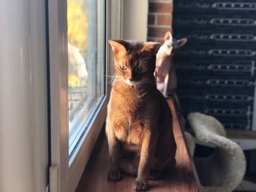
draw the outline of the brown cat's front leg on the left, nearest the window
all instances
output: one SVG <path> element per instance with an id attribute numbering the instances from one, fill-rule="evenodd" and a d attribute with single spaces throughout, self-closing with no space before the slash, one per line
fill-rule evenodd
<path id="1" fill-rule="evenodd" d="M 120 169 L 120 142 L 116 139 L 113 132 L 113 128 L 110 127 L 110 123 L 106 123 L 106 134 L 108 138 L 108 151 L 109 151 L 109 162 L 110 168 L 108 171 L 108 180 L 118 181 L 121 180 L 121 169 Z"/>

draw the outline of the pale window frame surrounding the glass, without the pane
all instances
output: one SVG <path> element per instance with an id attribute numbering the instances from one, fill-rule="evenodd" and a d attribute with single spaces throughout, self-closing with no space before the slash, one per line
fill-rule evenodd
<path id="1" fill-rule="evenodd" d="M 122 0 L 106 0 L 106 39 L 121 37 Z M 115 9 L 116 12 L 110 12 Z M 75 191 L 91 151 L 107 115 L 110 93 L 108 78 L 105 77 L 105 98 L 94 115 L 91 126 L 83 135 L 75 156 L 69 159 L 68 123 L 68 61 L 67 61 L 67 0 L 48 1 L 49 15 L 49 58 L 50 58 L 50 191 Z M 111 20 L 111 22 L 110 22 Z M 119 28 L 118 28 L 119 27 Z M 118 28 L 118 30 L 116 30 Z M 105 56 L 105 74 L 113 74 L 110 63 L 108 41 Z M 71 162 L 71 163 L 70 163 Z M 70 163 L 70 164 L 69 164 Z"/>

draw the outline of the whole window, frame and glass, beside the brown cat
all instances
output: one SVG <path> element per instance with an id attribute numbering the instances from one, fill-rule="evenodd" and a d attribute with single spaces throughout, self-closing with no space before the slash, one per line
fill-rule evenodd
<path id="1" fill-rule="evenodd" d="M 75 191 L 105 122 L 107 39 L 121 38 L 121 7 L 120 0 L 48 1 L 50 191 Z"/>

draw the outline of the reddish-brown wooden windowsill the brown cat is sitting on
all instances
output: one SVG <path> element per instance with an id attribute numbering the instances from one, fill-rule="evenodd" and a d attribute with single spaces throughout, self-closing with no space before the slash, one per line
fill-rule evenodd
<path id="1" fill-rule="evenodd" d="M 176 139 L 176 168 L 170 174 L 163 174 L 159 180 L 149 180 L 150 191 L 199 191 L 198 177 L 195 172 L 195 166 L 190 157 L 184 134 L 181 130 L 173 101 L 168 99 L 168 104 L 173 112 L 173 133 Z M 128 192 L 132 190 L 132 183 L 135 177 L 123 175 L 123 179 L 116 183 L 108 181 L 108 142 L 105 137 L 105 131 L 100 135 L 97 145 L 91 158 L 83 172 L 78 184 L 77 192 L 99 191 L 99 192 Z"/>

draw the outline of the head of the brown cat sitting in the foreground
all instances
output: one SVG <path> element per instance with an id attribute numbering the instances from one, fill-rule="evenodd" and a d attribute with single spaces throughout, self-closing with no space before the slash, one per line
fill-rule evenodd
<path id="1" fill-rule="evenodd" d="M 116 77 L 128 85 L 154 81 L 157 42 L 109 40 L 114 53 Z"/>

